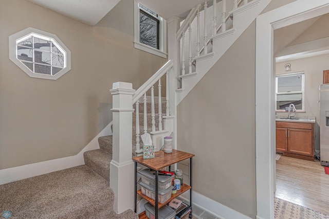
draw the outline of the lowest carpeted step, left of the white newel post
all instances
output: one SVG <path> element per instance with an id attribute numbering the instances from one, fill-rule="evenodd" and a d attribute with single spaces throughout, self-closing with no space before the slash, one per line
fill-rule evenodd
<path id="1" fill-rule="evenodd" d="M 96 149 L 84 152 L 83 158 L 85 165 L 109 181 L 109 163 L 112 160 L 112 153 Z"/>

